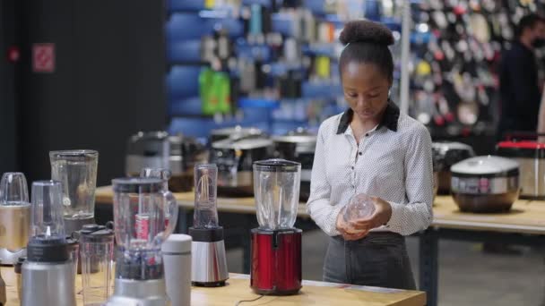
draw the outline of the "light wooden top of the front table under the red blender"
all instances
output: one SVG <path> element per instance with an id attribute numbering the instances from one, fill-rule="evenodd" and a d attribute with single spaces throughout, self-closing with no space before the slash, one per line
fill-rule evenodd
<path id="1" fill-rule="evenodd" d="M 2 277 L 6 284 L 7 305 L 20 305 L 17 296 L 16 276 L 13 267 L 2 267 Z M 247 275 L 232 274 L 229 285 L 221 288 L 193 287 L 191 305 L 233 306 L 241 300 L 253 300 L 259 295 L 252 293 Z M 76 278 L 76 301 L 82 305 L 82 277 Z M 369 306 L 423 306 L 426 304 L 426 293 L 378 287 L 338 285 L 323 282 L 304 281 L 303 289 L 298 295 L 264 296 L 255 302 L 243 305 L 369 305 Z"/>

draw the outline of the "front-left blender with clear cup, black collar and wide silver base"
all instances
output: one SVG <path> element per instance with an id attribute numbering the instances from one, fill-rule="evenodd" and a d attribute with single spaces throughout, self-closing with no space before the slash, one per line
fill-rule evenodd
<path id="1" fill-rule="evenodd" d="M 31 234 L 22 264 L 22 306 L 75 306 L 74 262 L 65 238 L 61 184 L 32 183 Z"/>

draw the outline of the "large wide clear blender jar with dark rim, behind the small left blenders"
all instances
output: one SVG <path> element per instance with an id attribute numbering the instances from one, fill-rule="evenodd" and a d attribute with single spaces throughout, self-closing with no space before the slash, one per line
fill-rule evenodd
<path id="1" fill-rule="evenodd" d="M 66 233 L 94 224 L 99 152 L 90 149 L 49 152 L 51 178 L 63 186 Z"/>

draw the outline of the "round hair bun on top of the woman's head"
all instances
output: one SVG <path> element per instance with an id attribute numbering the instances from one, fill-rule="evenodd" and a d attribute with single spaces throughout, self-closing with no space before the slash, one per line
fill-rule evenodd
<path id="1" fill-rule="evenodd" d="M 394 45 L 392 31 L 374 21 L 348 21 L 339 38 L 343 45 L 353 42 L 370 42 L 379 45 Z"/>

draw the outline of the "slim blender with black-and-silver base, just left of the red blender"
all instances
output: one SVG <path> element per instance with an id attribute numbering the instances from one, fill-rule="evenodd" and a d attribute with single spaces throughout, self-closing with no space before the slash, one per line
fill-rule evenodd
<path id="1" fill-rule="evenodd" d="M 197 286 L 219 287 L 229 278 L 216 207 L 217 180 L 216 165 L 195 165 L 195 215 L 188 234 L 193 239 L 191 282 Z"/>

